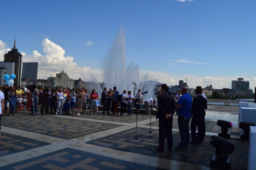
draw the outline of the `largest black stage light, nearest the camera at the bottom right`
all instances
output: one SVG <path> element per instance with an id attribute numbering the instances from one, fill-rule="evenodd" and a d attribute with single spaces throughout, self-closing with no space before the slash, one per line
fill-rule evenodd
<path id="1" fill-rule="evenodd" d="M 212 136 L 209 143 L 215 147 L 215 154 L 210 161 L 210 166 L 214 168 L 230 169 L 230 158 L 228 154 L 231 154 L 235 150 L 235 145 L 219 136 Z"/>

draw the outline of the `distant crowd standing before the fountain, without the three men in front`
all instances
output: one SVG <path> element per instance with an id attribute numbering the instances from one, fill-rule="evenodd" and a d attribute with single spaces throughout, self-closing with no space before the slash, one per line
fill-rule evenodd
<path id="1" fill-rule="evenodd" d="M 85 114 L 87 111 L 87 104 L 89 105 L 90 114 L 97 114 L 99 105 L 99 96 L 95 89 L 89 94 L 88 90 L 83 87 L 74 91 L 73 88 L 57 88 L 50 89 L 48 87 L 37 88 L 35 85 L 29 88 L 22 88 L 6 85 L 1 86 L 0 91 L 4 93 L 4 107 L 2 107 L 3 116 L 15 115 L 24 110 L 25 113 L 32 115 L 40 114 L 55 114 L 55 115 L 74 115 Z M 116 87 L 106 88 L 102 91 L 101 105 L 103 106 L 103 114 L 119 114 L 125 115 L 126 107 L 128 107 L 128 115 L 132 116 L 132 106 L 139 112 L 141 101 L 141 90 L 136 93 L 136 98 L 132 96 L 131 91 L 126 90 L 122 94 Z M 135 102 L 134 102 L 135 100 Z M 146 114 L 150 114 L 150 108 L 155 104 L 156 98 L 149 98 L 145 100 Z M 120 109 L 118 109 L 118 106 Z"/>

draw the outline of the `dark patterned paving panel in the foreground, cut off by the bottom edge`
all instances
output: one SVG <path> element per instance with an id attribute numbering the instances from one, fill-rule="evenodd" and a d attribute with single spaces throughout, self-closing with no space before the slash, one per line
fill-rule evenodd
<path id="1" fill-rule="evenodd" d="M 81 150 L 65 148 L 35 158 L 17 162 L 16 164 L 11 164 L 1 167 L 1 169 L 13 169 L 13 170 L 56 170 L 56 169 L 66 169 L 66 170 L 154 170 L 158 169 L 152 166 L 146 166 L 134 162 L 128 162 L 125 160 L 114 159 L 106 156 L 101 156 L 98 154 L 93 154 L 90 152 L 84 152 Z"/>

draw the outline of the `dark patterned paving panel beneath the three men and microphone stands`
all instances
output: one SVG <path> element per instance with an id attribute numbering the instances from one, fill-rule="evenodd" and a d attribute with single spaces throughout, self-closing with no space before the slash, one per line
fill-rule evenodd
<path id="1" fill-rule="evenodd" d="M 158 133 L 158 131 L 152 132 Z M 158 153 L 155 150 L 155 148 L 158 147 L 158 137 L 156 136 L 152 138 L 150 135 L 141 135 L 143 133 L 148 133 L 148 129 L 138 128 L 138 138 L 144 139 L 144 141 L 140 141 L 140 145 L 138 145 L 135 141 L 125 141 L 125 139 L 135 138 L 135 128 L 123 131 L 122 133 L 115 133 L 107 137 L 90 141 L 88 144 L 204 166 L 208 166 L 210 164 L 210 157 L 215 154 L 215 148 L 209 143 L 211 136 L 208 135 L 206 135 L 202 144 L 190 144 L 186 150 L 173 149 L 172 152 L 169 152 L 165 143 L 166 150 Z M 178 132 L 173 132 L 172 134 L 173 144 L 176 146 L 180 143 L 180 135 Z M 236 139 L 230 139 L 229 141 L 233 143 L 236 148 L 239 148 L 230 155 L 232 162 L 237 162 L 238 158 L 241 161 L 240 164 L 232 164 L 232 168 L 246 168 L 248 159 L 248 142 L 240 140 L 238 141 Z"/>

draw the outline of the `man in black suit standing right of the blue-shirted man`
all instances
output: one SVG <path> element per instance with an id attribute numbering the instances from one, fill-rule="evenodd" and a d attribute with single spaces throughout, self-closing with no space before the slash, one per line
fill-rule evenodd
<path id="1" fill-rule="evenodd" d="M 202 96 L 202 89 L 197 88 L 195 90 L 196 97 L 193 99 L 191 107 L 191 138 L 190 143 L 197 144 L 204 141 L 204 116 L 205 109 L 207 109 L 207 100 Z M 198 138 L 196 139 L 196 126 L 198 126 Z"/>

